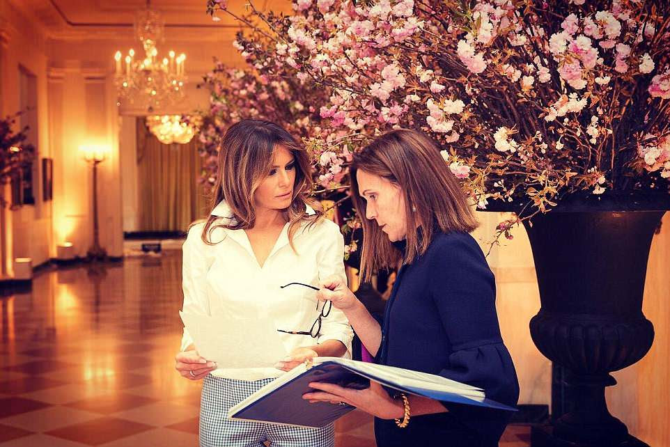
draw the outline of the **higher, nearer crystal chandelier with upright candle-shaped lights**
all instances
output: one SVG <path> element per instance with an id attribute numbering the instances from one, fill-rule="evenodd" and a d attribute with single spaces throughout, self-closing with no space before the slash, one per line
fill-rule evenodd
<path id="1" fill-rule="evenodd" d="M 163 40 L 164 21 L 157 11 L 150 8 L 150 0 L 146 2 L 146 9 L 137 14 L 134 29 L 144 48 L 144 56 L 136 58 L 134 49 L 130 49 L 123 61 L 120 51 L 114 55 L 116 105 L 125 102 L 151 113 L 179 102 L 184 97 L 186 55 L 176 56 L 170 51 L 169 58 L 159 60 L 156 44 Z"/>

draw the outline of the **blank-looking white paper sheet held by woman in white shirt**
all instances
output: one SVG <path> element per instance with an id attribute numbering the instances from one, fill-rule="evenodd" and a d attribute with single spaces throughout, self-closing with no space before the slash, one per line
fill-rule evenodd
<path id="1" fill-rule="evenodd" d="M 272 368 L 288 355 L 269 318 L 179 313 L 198 354 L 221 368 Z"/>

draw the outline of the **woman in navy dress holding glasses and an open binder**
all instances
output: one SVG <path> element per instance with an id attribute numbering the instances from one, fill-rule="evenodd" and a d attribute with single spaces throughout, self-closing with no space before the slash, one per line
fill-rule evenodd
<path id="1" fill-rule="evenodd" d="M 364 217 L 361 274 L 398 267 L 384 319 L 376 320 L 339 278 L 320 299 L 348 317 L 380 364 L 442 375 L 516 405 L 519 385 L 500 336 L 495 281 L 476 241 L 477 226 L 458 180 L 435 143 L 394 130 L 355 155 L 352 198 Z M 345 402 L 375 416 L 377 445 L 497 446 L 509 411 L 315 383 L 304 398 Z"/>

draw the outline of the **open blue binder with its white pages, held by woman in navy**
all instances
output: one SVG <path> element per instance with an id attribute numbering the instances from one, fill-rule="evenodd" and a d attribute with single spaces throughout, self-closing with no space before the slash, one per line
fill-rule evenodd
<path id="1" fill-rule="evenodd" d="M 228 418 L 302 427 L 323 427 L 344 416 L 354 407 L 329 402 L 314 404 L 302 398 L 314 391 L 310 382 L 327 382 L 365 389 L 370 380 L 387 388 L 426 398 L 516 411 L 515 408 L 487 399 L 482 389 L 446 379 L 439 375 L 420 373 L 393 366 L 376 365 L 339 357 L 316 357 L 303 363 L 231 407 Z"/>

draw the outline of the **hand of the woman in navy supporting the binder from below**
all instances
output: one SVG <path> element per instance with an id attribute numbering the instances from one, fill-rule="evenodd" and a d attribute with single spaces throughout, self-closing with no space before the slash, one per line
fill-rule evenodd
<path id="1" fill-rule="evenodd" d="M 381 419 L 403 418 L 405 407 L 402 402 L 391 399 L 389 393 L 377 382 L 370 382 L 370 388 L 357 390 L 334 384 L 313 382 L 311 388 L 320 391 L 305 393 L 302 398 L 309 402 L 344 402 Z"/>

